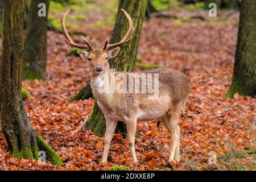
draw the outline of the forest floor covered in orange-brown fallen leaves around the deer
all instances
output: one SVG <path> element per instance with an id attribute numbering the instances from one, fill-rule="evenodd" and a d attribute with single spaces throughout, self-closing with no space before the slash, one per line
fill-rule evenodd
<path id="1" fill-rule="evenodd" d="M 191 11 L 187 10 L 189 14 Z M 180 11 L 177 13 L 180 13 Z M 193 12 L 195 13 L 195 12 Z M 182 13 L 181 13 L 182 14 Z M 108 170 L 128 167 L 134 170 L 252 170 L 255 166 L 255 98 L 225 98 L 232 81 L 236 51 L 238 13 L 213 20 L 197 18 L 151 18 L 145 20 L 139 43 L 141 65 L 161 65 L 185 72 L 192 91 L 185 115 L 180 118 L 179 163 L 168 164 L 170 134 L 156 121 L 137 125 L 135 148 L 139 164 L 133 166 L 127 140 L 115 134 L 107 164 L 101 164 L 103 138 L 90 130 L 71 137 L 86 116 L 94 100 L 69 102 L 89 78 L 88 63 L 69 55 L 71 46 L 59 32 L 48 31 L 47 80 L 24 80 L 30 97 L 24 101 L 32 126 L 60 155 L 63 167 L 35 160 L 15 159 L 7 152 L 0 132 L 0 170 Z M 58 14 L 56 16 L 60 16 Z M 81 14 L 80 14 L 81 15 Z M 79 31 L 86 32 L 93 45 L 102 47 L 110 37 L 112 26 L 90 26 L 90 14 L 80 20 Z M 98 17 L 98 18 L 97 18 Z M 93 21 L 104 21 L 104 14 Z M 185 17 L 185 18 L 184 18 Z M 69 24 L 77 24 L 69 19 Z M 88 25 L 88 26 L 87 26 Z M 72 27 L 71 27 L 72 28 Z M 81 40 L 79 35 L 73 35 Z M 135 68 L 135 71 L 139 71 Z M 1 131 L 1 128 L 0 128 Z M 213 154 L 213 155 L 212 155 Z M 209 164 L 209 158 L 216 163 Z M 211 156 L 212 155 L 212 156 Z"/>

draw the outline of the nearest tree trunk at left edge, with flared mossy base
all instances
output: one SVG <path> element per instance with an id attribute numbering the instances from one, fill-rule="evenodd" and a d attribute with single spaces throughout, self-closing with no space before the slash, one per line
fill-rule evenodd
<path id="1" fill-rule="evenodd" d="M 23 62 L 24 0 L 3 1 L 3 43 L 0 61 L 0 111 L 8 148 L 17 158 L 37 159 L 46 152 L 53 164 L 61 159 L 36 135 L 22 104 L 21 71 Z"/>

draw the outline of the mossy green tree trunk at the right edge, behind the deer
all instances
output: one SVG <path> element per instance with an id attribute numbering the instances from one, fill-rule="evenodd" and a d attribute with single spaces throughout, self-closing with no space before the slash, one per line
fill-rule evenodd
<path id="1" fill-rule="evenodd" d="M 233 98 L 235 93 L 242 96 L 256 95 L 256 1 L 241 3 L 237 50 L 234 61 L 232 84 L 226 93 Z"/>

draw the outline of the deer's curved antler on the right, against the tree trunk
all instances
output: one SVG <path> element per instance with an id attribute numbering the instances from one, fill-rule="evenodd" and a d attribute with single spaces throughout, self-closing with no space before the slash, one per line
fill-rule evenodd
<path id="1" fill-rule="evenodd" d="M 117 47 L 122 44 L 125 44 L 125 43 L 129 42 L 129 40 L 131 40 L 131 38 L 133 37 L 133 34 L 134 34 L 133 19 L 131 19 L 131 16 L 125 10 L 121 9 L 121 11 L 123 12 L 123 14 L 125 14 L 126 18 L 129 21 L 129 29 L 127 30 L 125 36 L 123 36 L 123 38 L 120 42 L 115 43 L 115 44 L 108 44 L 106 46 L 106 50 L 108 50 L 111 47 Z"/>

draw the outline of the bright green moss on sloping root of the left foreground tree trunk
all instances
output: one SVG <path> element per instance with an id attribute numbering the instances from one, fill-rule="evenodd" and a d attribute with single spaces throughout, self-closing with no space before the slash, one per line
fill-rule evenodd
<path id="1" fill-rule="evenodd" d="M 39 150 L 46 152 L 46 159 L 49 162 L 51 162 L 52 164 L 58 165 L 58 166 L 64 165 L 60 159 L 60 156 L 54 150 L 52 150 L 52 148 L 49 147 L 48 144 L 46 144 L 41 137 L 36 135 L 36 140 L 38 142 Z"/>

